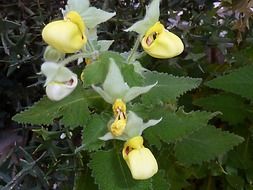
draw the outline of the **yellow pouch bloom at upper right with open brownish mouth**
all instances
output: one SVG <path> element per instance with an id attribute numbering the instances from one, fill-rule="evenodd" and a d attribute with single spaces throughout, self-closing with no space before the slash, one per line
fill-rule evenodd
<path id="1" fill-rule="evenodd" d="M 141 45 L 150 56 L 161 59 L 175 57 L 184 50 L 182 40 L 166 30 L 160 22 L 149 28 Z"/>

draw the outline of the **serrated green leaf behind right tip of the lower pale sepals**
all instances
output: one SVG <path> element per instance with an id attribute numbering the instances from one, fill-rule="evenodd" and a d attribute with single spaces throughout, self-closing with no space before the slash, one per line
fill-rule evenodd
<path id="1" fill-rule="evenodd" d="M 157 110 L 155 118 L 160 115 L 162 121 L 144 133 L 149 143 L 158 148 L 160 147 L 159 139 L 167 143 L 182 140 L 194 131 L 205 127 L 207 122 L 217 114 L 200 111 L 185 113 L 182 109 L 177 112 L 161 110 L 161 108 L 160 111 L 158 108 L 154 110 Z M 154 117 L 150 116 L 150 118 Z"/>

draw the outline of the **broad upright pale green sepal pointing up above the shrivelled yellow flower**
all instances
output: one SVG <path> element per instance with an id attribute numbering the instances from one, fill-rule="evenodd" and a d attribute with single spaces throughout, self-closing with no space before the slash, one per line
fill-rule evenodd
<path id="1" fill-rule="evenodd" d="M 113 59 L 110 59 L 109 70 L 103 83 L 103 89 L 113 99 L 122 98 L 129 89 L 123 79 L 119 67 Z"/>

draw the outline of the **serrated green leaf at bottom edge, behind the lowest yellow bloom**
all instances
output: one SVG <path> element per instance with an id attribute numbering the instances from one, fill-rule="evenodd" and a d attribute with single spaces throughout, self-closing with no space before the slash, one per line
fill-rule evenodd
<path id="1" fill-rule="evenodd" d="M 151 187 L 150 180 L 132 178 L 121 152 L 98 151 L 92 154 L 91 159 L 89 166 L 101 190 L 147 190 Z"/>

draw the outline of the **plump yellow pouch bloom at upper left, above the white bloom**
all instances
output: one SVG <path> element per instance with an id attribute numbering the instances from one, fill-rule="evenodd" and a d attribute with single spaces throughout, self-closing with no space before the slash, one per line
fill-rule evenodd
<path id="1" fill-rule="evenodd" d="M 64 20 L 50 22 L 42 30 L 42 38 L 50 46 L 64 53 L 74 53 L 87 42 L 82 17 L 70 11 Z"/>

